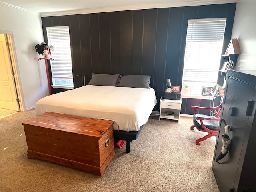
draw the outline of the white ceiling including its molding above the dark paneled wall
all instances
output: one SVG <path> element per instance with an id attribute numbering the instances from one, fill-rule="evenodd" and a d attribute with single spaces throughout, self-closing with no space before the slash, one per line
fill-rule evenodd
<path id="1" fill-rule="evenodd" d="M 0 0 L 0 4 L 41 16 L 232 3 L 241 0 Z"/>

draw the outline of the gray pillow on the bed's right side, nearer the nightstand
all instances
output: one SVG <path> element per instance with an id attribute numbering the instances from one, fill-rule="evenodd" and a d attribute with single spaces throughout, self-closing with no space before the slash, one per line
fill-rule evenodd
<path id="1" fill-rule="evenodd" d="M 120 87 L 149 88 L 150 75 L 123 75 Z"/>

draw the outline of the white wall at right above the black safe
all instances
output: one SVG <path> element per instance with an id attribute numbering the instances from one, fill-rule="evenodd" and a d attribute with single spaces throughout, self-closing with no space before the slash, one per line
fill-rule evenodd
<path id="1" fill-rule="evenodd" d="M 236 69 L 256 70 L 256 0 L 236 4 L 232 38 L 238 38 L 241 54 Z"/>

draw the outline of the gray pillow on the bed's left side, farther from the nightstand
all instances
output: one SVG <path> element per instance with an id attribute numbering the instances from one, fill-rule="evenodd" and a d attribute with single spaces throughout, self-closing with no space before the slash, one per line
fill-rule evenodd
<path id="1" fill-rule="evenodd" d="M 120 86 L 120 75 L 92 74 L 88 85 Z"/>

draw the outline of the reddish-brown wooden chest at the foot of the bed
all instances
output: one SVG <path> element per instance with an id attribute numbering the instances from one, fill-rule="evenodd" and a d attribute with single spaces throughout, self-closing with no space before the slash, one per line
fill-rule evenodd
<path id="1" fill-rule="evenodd" d="M 23 123 L 28 158 L 99 177 L 115 156 L 113 121 L 46 112 Z"/>

